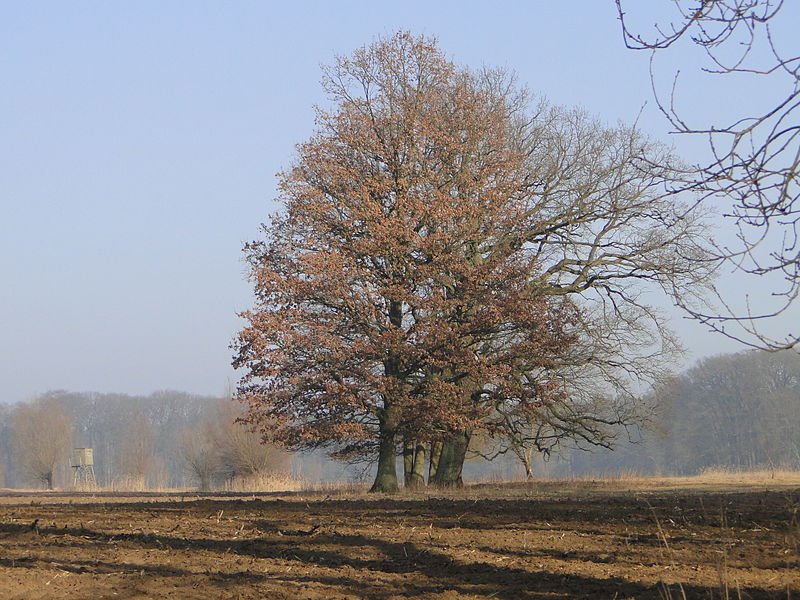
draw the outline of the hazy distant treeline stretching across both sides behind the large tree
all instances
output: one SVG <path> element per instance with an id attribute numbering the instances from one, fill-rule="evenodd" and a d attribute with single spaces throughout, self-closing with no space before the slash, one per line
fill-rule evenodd
<path id="1" fill-rule="evenodd" d="M 621 432 L 616 450 L 561 448 L 548 462 L 534 457 L 534 475 L 800 468 L 796 352 L 701 360 L 657 390 L 653 405 L 650 427 Z M 263 446 L 257 434 L 235 423 L 238 415 L 230 400 L 180 392 L 141 397 L 56 391 L 0 405 L 0 487 L 69 486 L 73 447 L 93 448 L 98 484 L 120 489 L 220 487 L 292 470 L 310 481 L 358 473 L 320 453 L 290 457 Z M 471 460 L 465 472 L 468 479 L 523 474 L 510 452 L 492 462 Z"/>

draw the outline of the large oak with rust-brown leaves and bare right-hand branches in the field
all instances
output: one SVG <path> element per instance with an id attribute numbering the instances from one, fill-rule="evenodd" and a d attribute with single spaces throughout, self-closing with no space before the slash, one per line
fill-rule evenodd
<path id="1" fill-rule="evenodd" d="M 707 275 L 697 219 L 658 199 L 669 154 L 406 33 L 323 85 L 284 210 L 247 246 L 251 423 L 377 453 L 373 490 L 393 491 L 401 439 L 438 440 L 434 481 L 452 485 L 476 430 L 526 444 L 545 420 L 594 442 L 631 419 L 675 350 L 644 291 Z"/>

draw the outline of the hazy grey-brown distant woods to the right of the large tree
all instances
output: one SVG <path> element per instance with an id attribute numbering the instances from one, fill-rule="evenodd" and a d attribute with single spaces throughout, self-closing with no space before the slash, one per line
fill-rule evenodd
<path id="1" fill-rule="evenodd" d="M 622 443 L 614 452 L 567 453 L 566 469 L 694 474 L 712 467 L 800 468 L 800 354 L 795 351 L 700 360 L 657 390 L 654 399 L 650 430 L 630 432 L 638 443 Z"/>

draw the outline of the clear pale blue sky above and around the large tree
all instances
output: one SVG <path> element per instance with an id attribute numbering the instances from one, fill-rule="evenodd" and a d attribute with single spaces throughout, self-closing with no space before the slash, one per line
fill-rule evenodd
<path id="1" fill-rule="evenodd" d="M 242 244 L 325 103 L 320 64 L 377 35 L 435 36 L 458 63 L 513 69 L 610 123 L 651 100 L 612 0 L 501 6 L 0 1 L 0 401 L 222 393 L 251 303 Z M 786 13 L 800 22 L 798 3 Z M 686 105 L 703 105 L 686 76 Z M 639 124 L 673 141 L 652 102 Z M 741 349 L 675 327 L 687 360 Z"/>

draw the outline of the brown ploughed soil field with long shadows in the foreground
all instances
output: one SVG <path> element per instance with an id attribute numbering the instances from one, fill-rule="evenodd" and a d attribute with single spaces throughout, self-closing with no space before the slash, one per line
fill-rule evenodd
<path id="1" fill-rule="evenodd" d="M 0 492 L 2 598 L 800 598 L 796 486 Z"/>

